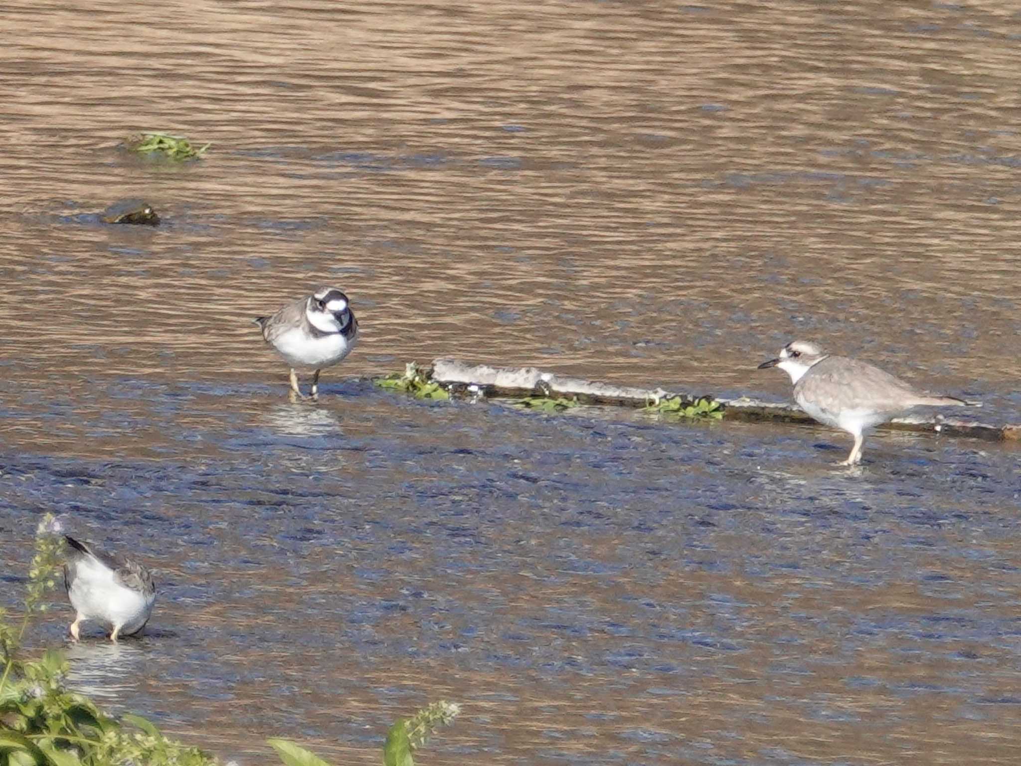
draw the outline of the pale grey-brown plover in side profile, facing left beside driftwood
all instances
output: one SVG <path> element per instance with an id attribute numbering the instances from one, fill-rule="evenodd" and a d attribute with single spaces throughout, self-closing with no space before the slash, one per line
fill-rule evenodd
<path id="1" fill-rule="evenodd" d="M 907 415 L 917 406 L 981 406 L 955 396 L 922 391 L 878 367 L 848 356 L 824 353 L 813 343 L 795 340 L 780 349 L 760 370 L 778 367 L 794 384 L 794 401 L 820 423 L 835 426 L 855 437 L 855 446 L 841 465 L 862 460 L 862 435 L 867 428 Z"/>

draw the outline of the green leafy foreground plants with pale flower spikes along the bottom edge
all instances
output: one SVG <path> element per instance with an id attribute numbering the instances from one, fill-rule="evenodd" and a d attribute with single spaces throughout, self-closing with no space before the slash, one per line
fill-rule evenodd
<path id="1" fill-rule="evenodd" d="M 0 609 L 0 766 L 217 766 L 204 751 L 165 736 L 136 715 L 108 716 L 87 697 L 63 685 L 67 661 L 47 650 L 38 660 L 16 655 L 33 616 L 47 610 L 46 593 L 57 581 L 63 555 L 60 524 L 47 514 L 36 530 L 35 556 L 20 625 Z M 460 708 L 437 702 L 390 727 L 384 766 L 415 766 L 411 753 Z M 286 739 L 269 739 L 287 766 L 329 766 Z"/>

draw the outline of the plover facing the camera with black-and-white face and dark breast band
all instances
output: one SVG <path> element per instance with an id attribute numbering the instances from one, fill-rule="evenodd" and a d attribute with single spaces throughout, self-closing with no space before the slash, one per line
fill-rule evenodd
<path id="1" fill-rule="evenodd" d="M 312 372 L 311 397 L 317 398 L 320 372 L 350 353 L 358 339 L 358 321 L 347 296 L 336 287 L 321 287 L 255 322 L 266 343 L 291 366 L 291 390 L 299 397 L 299 370 Z"/>

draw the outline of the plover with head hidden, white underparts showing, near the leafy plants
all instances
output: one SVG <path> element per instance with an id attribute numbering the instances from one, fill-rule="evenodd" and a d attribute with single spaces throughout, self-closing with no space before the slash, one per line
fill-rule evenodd
<path id="1" fill-rule="evenodd" d="M 107 556 L 69 535 L 70 549 L 64 564 L 64 587 L 78 613 L 70 636 L 79 639 L 84 620 L 101 620 L 110 626 L 110 640 L 132 635 L 145 627 L 156 601 L 149 570 L 132 559 Z"/>

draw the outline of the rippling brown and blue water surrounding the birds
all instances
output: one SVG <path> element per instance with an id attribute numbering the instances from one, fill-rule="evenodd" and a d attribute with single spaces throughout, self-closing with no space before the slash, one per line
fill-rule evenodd
<path id="1" fill-rule="evenodd" d="M 1011 3 L 0 11 L 0 603 L 45 511 L 157 570 L 72 682 L 242 764 L 1016 764 L 1019 452 L 423 403 L 446 354 L 783 399 L 793 337 L 1017 420 Z M 211 141 L 183 166 L 116 148 Z M 157 229 L 98 213 L 143 196 Z M 363 330 L 318 405 L 250 318 Z M 69 610 L 34 645 L 62 640 Z"/>

